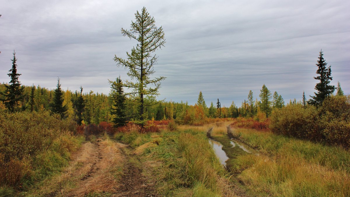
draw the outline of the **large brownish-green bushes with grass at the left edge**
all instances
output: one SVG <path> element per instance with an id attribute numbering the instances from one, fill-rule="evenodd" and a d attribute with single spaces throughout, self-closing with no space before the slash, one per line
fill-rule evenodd
<path id="1" fill-rule="evenodd" d="M 61 167 L 79 143 L 73 133 L 73 121 L 49 112 L 1 112 L 0 187 L 25 187 Z"/>

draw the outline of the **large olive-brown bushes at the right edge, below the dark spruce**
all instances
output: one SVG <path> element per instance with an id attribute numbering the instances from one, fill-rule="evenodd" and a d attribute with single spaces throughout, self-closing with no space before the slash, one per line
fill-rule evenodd
<path id="1" fill-rule="evenodd" d="M 271 131 L 350 147 L 350 96 L 330 96 L 316 109 L 288 105 L 271 115 Z"/>

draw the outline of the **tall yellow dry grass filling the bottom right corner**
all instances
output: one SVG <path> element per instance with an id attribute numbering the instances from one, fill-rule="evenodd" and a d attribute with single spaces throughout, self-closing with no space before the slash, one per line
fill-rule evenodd
<path id="1" fill-rule="evenodd" d="M 249 157 L 249 156 L 242 156 Z M 279 155 L 250 157 L 253 165 L 238 176 L 248 188 L 273 196 L 349 196 L 350 177 L 303 159 Z M 252 161 L 250 161 L 252 162 Z"/>

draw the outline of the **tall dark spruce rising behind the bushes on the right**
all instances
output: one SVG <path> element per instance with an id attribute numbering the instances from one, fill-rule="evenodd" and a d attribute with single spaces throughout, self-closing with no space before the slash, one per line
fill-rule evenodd
<path id="1" fill-rule="evenodd" d="M 317 92 L 314 92 L 315 96 L 310 96 L 311 98 L 308 100 L 308 104 L 319 106 L 326 97 L 334 92 L 335 86 L 329 85 L 332 80 L 331 69 L 330 66 L 328 66 L 328 68 L 326 67 L 327 63 L 323 58 L 322 50 L 320 51 L 320 57 L 318 57 L 316 65 L 318 67 L 316 73 L 319 76 L 314 77 L 314 79 L 320 80 L 320 82 L 316 84 L 315 90 L 317 90 Z"/>

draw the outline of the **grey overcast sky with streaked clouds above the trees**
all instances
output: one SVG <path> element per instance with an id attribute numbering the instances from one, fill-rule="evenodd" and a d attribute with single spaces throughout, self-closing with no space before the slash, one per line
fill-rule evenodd
<path id="1" fill-rule="evenodd" d="M 240 106 L 263 84 L 285 101 L 313 95 L 318 53 L 333 81 L 350 93 L 349 0 L 147 1 L 1 0 L 0 82 L 9 82 L 13 50 L 20 82 L 54 89 L 109 93 L 119 75 L 114 55 L 136 44 L 123 37 L 134 13 L 145 6 L 163 27 L 165 47 L 155 53 L 160 99 Z"/>

